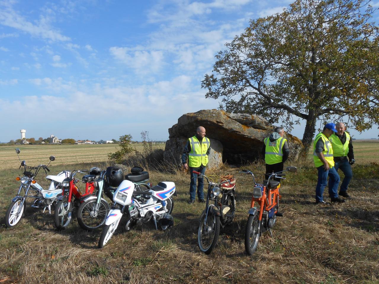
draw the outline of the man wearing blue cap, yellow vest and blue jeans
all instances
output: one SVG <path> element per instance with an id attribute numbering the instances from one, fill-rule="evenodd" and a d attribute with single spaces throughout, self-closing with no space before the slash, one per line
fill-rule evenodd
<path id="1" fill-rule="evenodd" d="M 329 176 L 329 197 L 330 201 L 343 203 L 344 199 L 338 197 L 338 184 L 340 176 L 334 168 L 333 148 L 329 137 L 336 133 L 334 123 L 326 123 L 322 132 L 317 134 L 313 143 L 313 162 L 318 170 L 318 179 L 316 185 L 316 203 L 325 204 L 323 198 L 324 189 L 327 185 Z"/>

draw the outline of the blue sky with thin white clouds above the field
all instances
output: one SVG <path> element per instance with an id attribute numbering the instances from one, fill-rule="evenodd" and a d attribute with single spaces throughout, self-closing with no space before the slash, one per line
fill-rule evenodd
<path id="1" fill-rule="evenodd" d="M 22 128 L 36 139 L 166 140 L 182 114 L 218 107 L 200 82 L 224 44 L 290 2 L 0 0 L 0 141 Z"/>

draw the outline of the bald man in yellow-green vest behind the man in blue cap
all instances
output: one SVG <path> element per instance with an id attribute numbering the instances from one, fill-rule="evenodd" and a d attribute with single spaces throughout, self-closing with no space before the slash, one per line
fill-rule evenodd
<path id="1" fill-rule="evenodd" d="M 353 145 L 351 143 L 350 134 L 345 131 L 345 124 L 338 122 L 335 126 L 337 133 L 333 133 L 329 137 L 333 148 L 334 167 L 336 171 L 338 171 L 338 169 L 341 169 L 345 175 L 345 178 L 343 178 L 343 181 L 341 183 L 340 192 L 338 195 L 341 195 L 347 199 L 351 199 L 350 195 L 348 194 L 348 186 L 353 176 L 351 165 L 355 162 Z"/>

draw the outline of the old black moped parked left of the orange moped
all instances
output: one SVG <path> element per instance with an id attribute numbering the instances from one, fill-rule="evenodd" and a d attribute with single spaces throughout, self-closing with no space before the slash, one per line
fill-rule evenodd
<path id="1" fill-rule="evenodd" d="M 235 215 L 235 179 L 233 176 L 221 177 L 219 183 L 209 181 L 202 173 L 193 171 L 202 178 L 207 179 L 208 193 L 205 209 L 200 216 L 197 241 L 199 248 L 205 254 L 210 254 L 215 247 L 220 226 L 229 225 Z"/>

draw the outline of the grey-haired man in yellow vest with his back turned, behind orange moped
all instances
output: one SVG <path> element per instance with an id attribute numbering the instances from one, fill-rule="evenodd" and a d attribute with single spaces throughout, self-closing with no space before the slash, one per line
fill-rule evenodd
<path id="1" fill-rule="evenodd" d="M 266 162 L 265 179 L 269 178 L 270 173 L 281 172 L 283 170 L 283 163 L 288 159 L 290 149 L 288 149 L 287 139 L 283 138 L 283 136 L 283 128 L 276 127 L 270 137 L 263 140 L 264 144 L 261 154 L 265 156 Z"/>

